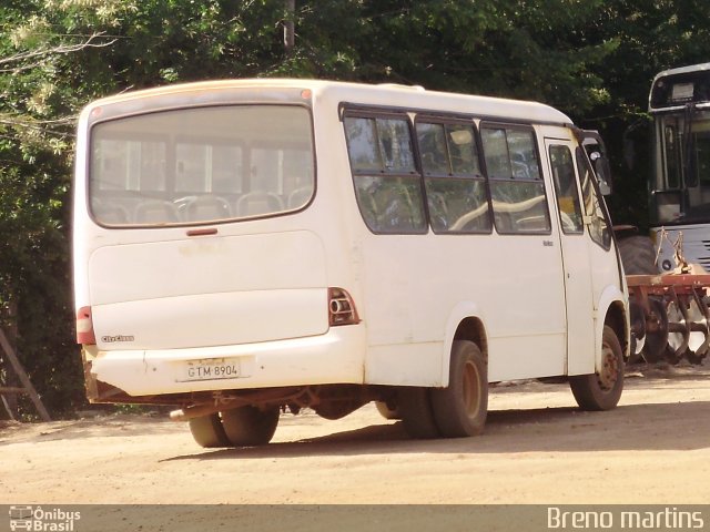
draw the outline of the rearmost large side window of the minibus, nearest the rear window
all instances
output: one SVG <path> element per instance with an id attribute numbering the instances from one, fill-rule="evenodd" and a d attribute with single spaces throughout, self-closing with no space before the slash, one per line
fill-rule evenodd
<path id="1" fill-rule="evenodd" d="M 426 233 L 424 197 L 405 117 L 346 116 L 357 204 L 374 233 Z"/>

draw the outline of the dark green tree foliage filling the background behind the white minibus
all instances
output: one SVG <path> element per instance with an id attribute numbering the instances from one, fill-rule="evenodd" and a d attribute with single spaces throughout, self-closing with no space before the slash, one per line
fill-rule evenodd
<path id="1" fill-rule="evenodd" d="M 613 215 L 643 223 L 622 147 L 658 71 L 708 61 L 692 0 L 6 0 L 0 7 L 0 305 L 54 412 L 83 397 L 73 316 L 73 124 L 90 100 L 215 78 L 313 76 L 538 100 L 607 139 Z M 283 45 L 293 20 L 295 47 Z M 631 131 L 643 131 L 635 127 Z M 643 145 L 637 144 L 642 155 Z M 8 308 L 17 304 L 17 315 Z"/>

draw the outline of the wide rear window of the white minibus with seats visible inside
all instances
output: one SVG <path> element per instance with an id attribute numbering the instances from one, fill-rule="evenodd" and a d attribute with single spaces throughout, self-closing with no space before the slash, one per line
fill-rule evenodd
<path id="1" fill-rule="evenodd" d="M 305 206 L 311 115 L 296 105 L 179 109 L 95 124 L 90 208 L 108 226 L 195 224 Z"/>

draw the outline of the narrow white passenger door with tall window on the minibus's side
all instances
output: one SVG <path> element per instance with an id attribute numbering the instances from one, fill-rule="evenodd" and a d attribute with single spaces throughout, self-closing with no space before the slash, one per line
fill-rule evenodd
<path id="1" fill-rule="evenodd" d="M 567 307 L 567 374 L 595 370 L 595 303 L 589 232 L 571 140 L 545 139 L 555 188 Z"/>

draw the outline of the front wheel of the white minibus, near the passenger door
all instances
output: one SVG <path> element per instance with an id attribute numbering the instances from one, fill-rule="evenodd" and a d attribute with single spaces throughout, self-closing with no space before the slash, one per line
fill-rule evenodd
<path id="1" fill-rule="evenodd" d="M 616 332 L 605 325 L 601 338 L 602 374 L 575 375 L 569 387 L 582 410 L 611 410 L 623 391 L 623 351 Z"/>

